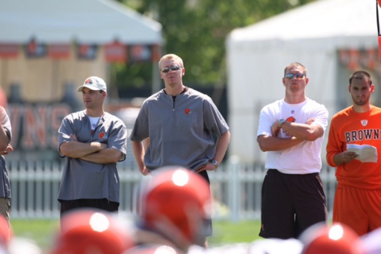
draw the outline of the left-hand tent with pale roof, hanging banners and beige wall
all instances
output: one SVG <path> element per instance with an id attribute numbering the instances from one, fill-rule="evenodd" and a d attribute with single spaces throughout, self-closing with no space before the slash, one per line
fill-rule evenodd
<path id="1" fill-rule="evenodd" d="M 7 94 L 18 85 L 26 101 L 55 101 L 66 84 L 79 86 L 92 75 L 109 83 L 110 55 L 126 63 L 134 53 L 150 60 L 163 43 L 160 23 L 115 0 L 0 0 L 0 31 L 0 84 Z M 63 57 L 53 56 L 54 48 Z M 152 65 L 157 90 L 160 77 Z"/>

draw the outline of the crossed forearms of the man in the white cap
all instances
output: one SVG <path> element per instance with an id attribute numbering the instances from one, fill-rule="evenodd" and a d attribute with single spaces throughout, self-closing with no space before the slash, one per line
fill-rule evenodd
<path id="1" fill-rule="evenodd" d="M 85 161 L 107 164 L 119 161 L 122 153 L 114 148 L 108 148 L 106 143 L 79 142 L 75 134 L 70 135 L 73 141 L 66 141 L 59 147 L 60 152 L 71 158 L 78 158 Z"/>

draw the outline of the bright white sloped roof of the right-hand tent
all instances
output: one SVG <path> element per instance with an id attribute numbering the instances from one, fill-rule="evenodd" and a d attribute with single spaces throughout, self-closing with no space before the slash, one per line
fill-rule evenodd
<path id="1" fill-rule="evenodd" d="M 377 33 L 375 7 L 374 0 L 320 0 L 254 25 L 235 29 L 230 40 L 295 41 L 372 36 Z"/>

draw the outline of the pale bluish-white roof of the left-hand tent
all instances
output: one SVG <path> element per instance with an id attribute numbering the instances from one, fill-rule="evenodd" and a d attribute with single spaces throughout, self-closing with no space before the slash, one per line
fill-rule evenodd
<path id="1" fill-rule="evenodd" d="M 161 44 L 161 24 L 111 0 L 0 0 L 0 42 Z"/>

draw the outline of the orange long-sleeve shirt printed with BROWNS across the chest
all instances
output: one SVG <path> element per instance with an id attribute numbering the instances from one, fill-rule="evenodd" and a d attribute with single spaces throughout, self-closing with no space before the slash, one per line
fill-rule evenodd
<path id="1" fill-rule="evenodd" d="M 333 157 L 346 151 L 346 144 L 369 144 L 377 148 L 377 163 L 352 160 L 337 166 Z M 331 120 L 327 143 L 327 162 L 337 167 L 337 182 L 364 189 L 381 189 L 381 108 L 371 106 L 357 113 L 353 106 L 336 113 Z"/>

